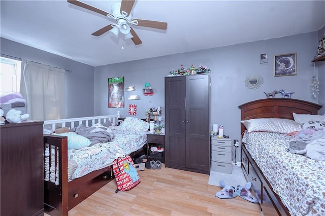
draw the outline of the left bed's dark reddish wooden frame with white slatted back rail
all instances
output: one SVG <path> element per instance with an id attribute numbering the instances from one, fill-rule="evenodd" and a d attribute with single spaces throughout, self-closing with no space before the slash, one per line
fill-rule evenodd
<path id="1" fill-rule="evenodd" d="M 118 112 L 117 115 L 111 116 L 50 120 L 44 121 L 44 126 L 51 125 L 52 130 L 54 130 L 55 127 L 76 127 L 79 124 L 91 126 L 95 123 L 107 121 L 117 125 L 119 117 Z M 46 145 L 57 150 L 55 151 L 55 164 L 59 164 L 58 172 L 60 176 L 58 185 L 44 180 L 44 211 L 47 214 L 52 216 L 68 215 L 70 209 L 114 179 L 112 166 L 108 166 L 68 182 L 68 138 L 66 136 L 44 135 L 44 149 Z M 130 154 L 131 158 L 135 159 L 142 152 L 145 152 L 145 146 Z M 57 156 L 58 160 L 56 159 Z"/>

